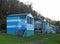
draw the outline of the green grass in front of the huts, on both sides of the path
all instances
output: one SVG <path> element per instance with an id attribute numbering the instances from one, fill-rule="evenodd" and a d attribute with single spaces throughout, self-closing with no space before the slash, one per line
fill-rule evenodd
<path id="1" fill-rule="evenodd" d="M 46 41 L 41 41 L 40 44 L 60 44 L 60 34 L 35 34 L 31 37 L 17 37 L 7 34 L 0 34 L 0 44 L 21 44 L 34 40 L 48 38 Z"/>

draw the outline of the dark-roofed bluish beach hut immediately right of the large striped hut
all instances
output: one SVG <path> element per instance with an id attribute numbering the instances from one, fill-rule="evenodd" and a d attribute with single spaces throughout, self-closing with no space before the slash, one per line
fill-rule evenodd
<path id="1" fill-rule="evenodd" d="M 34 16 L 34 30 L 35 32 L 41 32 L 41 28 L 42 28 L 42 21 L 41 18 L 39 16 Z"/>

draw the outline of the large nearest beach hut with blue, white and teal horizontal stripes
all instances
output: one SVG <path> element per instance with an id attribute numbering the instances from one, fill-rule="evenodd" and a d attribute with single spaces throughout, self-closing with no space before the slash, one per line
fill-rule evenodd
<path id="1" fill-rule="evenodd" d="M 7 16 L 7 34 L 19 36 L 34 35 L 34 17 L 30 13 Z"/>

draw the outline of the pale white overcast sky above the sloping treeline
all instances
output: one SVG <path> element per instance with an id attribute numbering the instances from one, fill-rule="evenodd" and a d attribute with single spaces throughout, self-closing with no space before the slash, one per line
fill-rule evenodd
<path id="1" fill-rule="evenodd" d="M 31 2 L 32 7 L 44 17 L 60 21 L 60 0 L 20 0 Z"/>

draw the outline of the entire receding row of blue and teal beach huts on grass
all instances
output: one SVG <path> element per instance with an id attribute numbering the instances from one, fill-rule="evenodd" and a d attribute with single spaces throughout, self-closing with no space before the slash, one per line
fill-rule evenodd
<path id="1" fill-rule="evenodd" d="M 37 33 L 58 33 L 59 27 L 50 24 L 44 18 L 30 13 L 11 14 L 7 16 L 7 34 L 28 37 Z"/>

